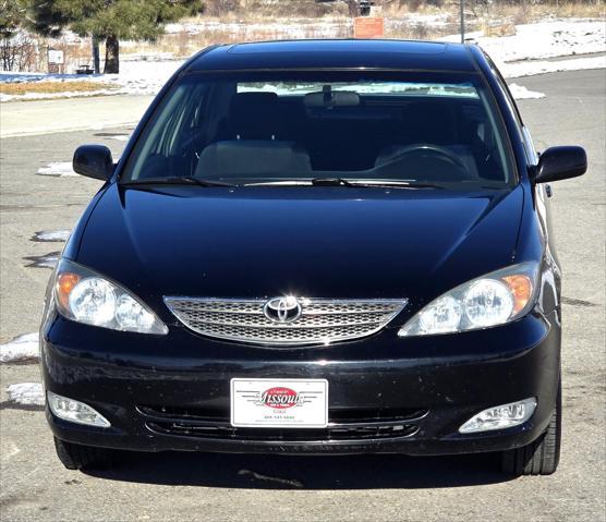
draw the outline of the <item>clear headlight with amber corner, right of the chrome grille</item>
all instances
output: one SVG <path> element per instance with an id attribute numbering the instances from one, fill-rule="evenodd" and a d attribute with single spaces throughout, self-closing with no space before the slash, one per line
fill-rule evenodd
<path id="1" fill-rule="evenodd" d="M 533 305 L 538 267 L 522 263 L 469 281 L 432 301 L 400 337 L 452 333 L 504 325 Z"/>

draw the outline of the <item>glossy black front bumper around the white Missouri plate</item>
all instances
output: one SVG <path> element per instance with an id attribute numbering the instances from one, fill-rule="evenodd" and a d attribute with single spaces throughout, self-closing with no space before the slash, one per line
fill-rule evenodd
<path id="1" fill-rule="evenodd" d="M 278 453 L 447 454 L 524 446 L 547 427 L 559 378 L 557 313 L 499 328 L 398 339 L 387 328 L 332 347 L 272 350 L 213 341 L 182 327 L 166 337 L 88 327 L 62 317 L 43 327 L 44 383 L 85 402 L 111 428 L 54 417 L 66 441 L 117 449 Z M 327 429 L 232 428 L 230 379 L 326 378 Z M 461 435 L 480 411 L 535 397 L 514 428 Z"/>

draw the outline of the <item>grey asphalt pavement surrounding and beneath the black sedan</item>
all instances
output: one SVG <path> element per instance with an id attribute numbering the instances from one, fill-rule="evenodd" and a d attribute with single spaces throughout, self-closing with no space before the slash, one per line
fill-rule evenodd
<path id="1" fill-rule="evenodd" d="M 606 520 L 606 71 L 519 78 L 545 93 L 519 104 L 537 148 L 580 144 L 589 173 L 554 185 L 563 268 L 563 448 L 549 477 L 511 479 L 492 456 L 278 457 L 131 454 L 124 468 L 70 472 L 44 413 L 7 400 L 39 381 L 36 364 L 0 364 L 0 519 L 19 520 Z M 128 101 L 125 101 L 128 102 Z M 98 182 L 36 174 L 82 143 L 116 155 L 128 129 L 7 137 L 0 144 L 0 342 L 37 329 L 50 270 L 36 259 L 71 229 Z M 108 245 L 111 247 L 111 245 Z M 118 255 L 118 254 L 117 254 Z M 39 263 L 38 263 L 39 264 Z M 32 266 L 34 265 L 34 266 Z"/>

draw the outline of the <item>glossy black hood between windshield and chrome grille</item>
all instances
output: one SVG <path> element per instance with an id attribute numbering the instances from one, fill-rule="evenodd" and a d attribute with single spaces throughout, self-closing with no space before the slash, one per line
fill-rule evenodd
<path id="1" fill-rule="evenodd" d="M 162 295 L 427 302 L 512 262 L 523 189 L 108 186 L 78 263 Z M 152 304 L 152 303 L 149 303 Z"/>

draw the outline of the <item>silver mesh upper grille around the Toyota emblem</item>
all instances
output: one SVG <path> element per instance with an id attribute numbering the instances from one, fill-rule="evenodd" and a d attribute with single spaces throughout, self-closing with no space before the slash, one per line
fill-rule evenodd
<path id="1" fill-rule="evenodd" d="M 298 299 L 301 314 L 280 323 L 268 318 L 265 300 L 165 298 L 187 328 L 208 337 L 259 344 L 328 344 L 384 328 L 407 300 Z"/>

